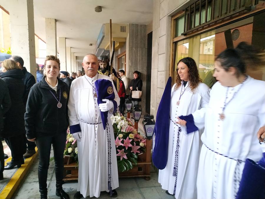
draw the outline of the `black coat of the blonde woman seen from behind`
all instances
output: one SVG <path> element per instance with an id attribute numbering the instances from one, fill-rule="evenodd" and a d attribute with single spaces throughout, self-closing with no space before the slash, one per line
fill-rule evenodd
<path id="1" fill-rule="evenodd" d="M 11 99 L 11 107 L 6 112 L 4 130 L 1 136 L 4 138 L 14 137 L 25 133 L 23 103 L 24 83 L 22 81 L 24 74 L 21 69 L 8 70 L 0 75 L 6 82 Z"/>

